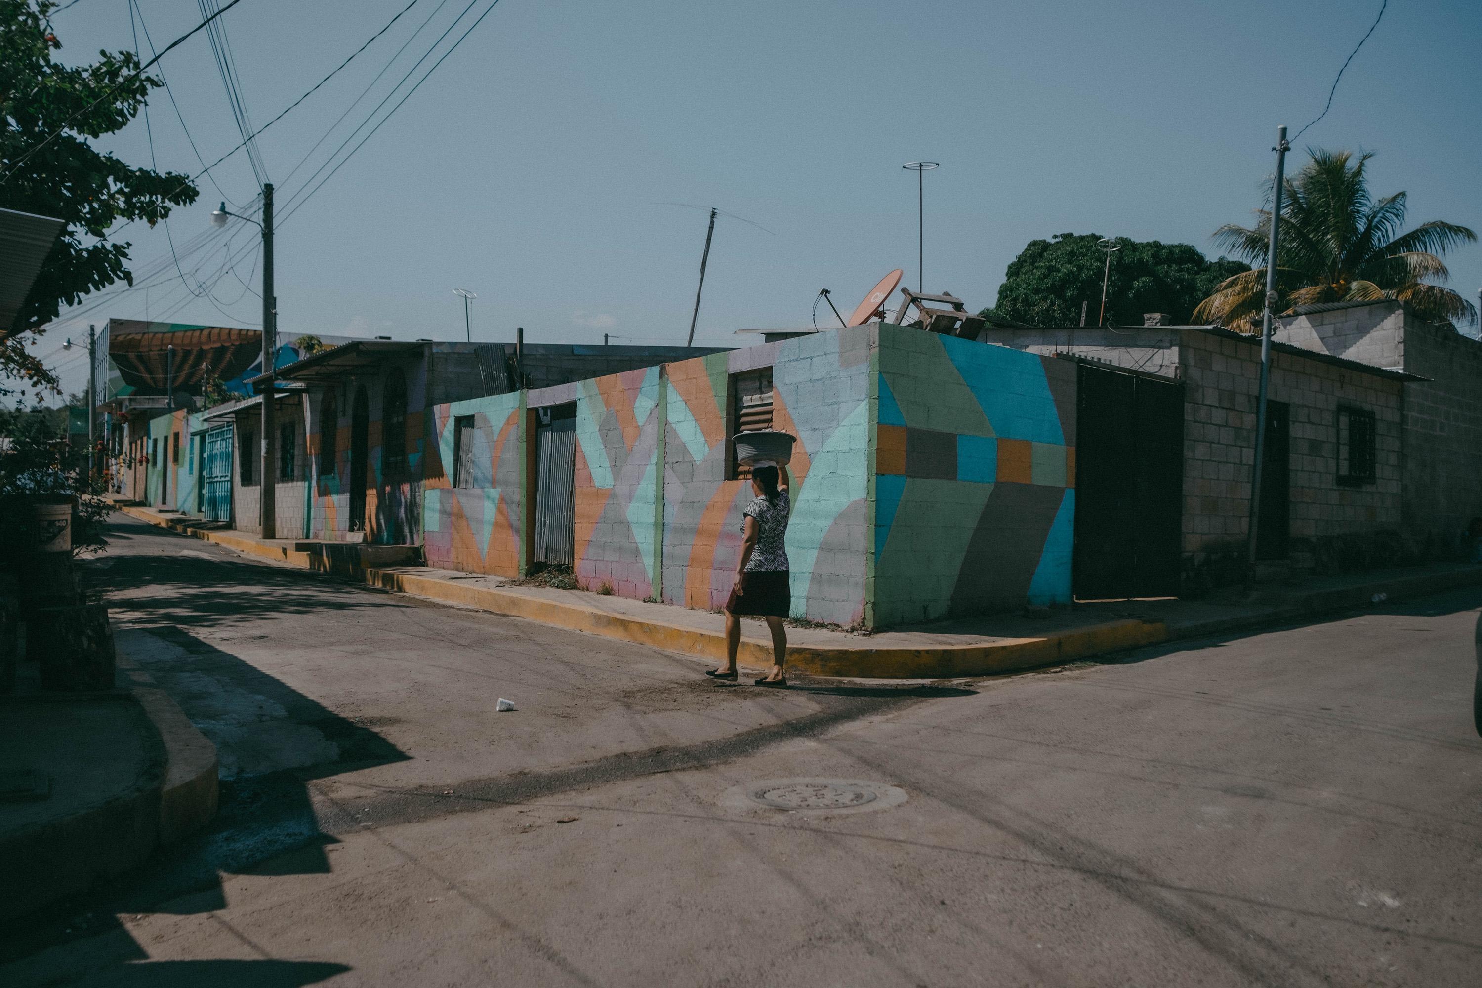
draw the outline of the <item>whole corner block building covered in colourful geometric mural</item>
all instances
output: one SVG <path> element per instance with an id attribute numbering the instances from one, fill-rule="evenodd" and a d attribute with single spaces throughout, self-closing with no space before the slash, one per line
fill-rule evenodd
<path id="1" fill-rule="evenodd" d="M 797 437 L 794 616 L 1069 603 L 1074 409 L 1067 361 L 891 324 L 439 404 L 425 555 L 717 609 L 751 498 L 731 437 L 777 428 Z"/>

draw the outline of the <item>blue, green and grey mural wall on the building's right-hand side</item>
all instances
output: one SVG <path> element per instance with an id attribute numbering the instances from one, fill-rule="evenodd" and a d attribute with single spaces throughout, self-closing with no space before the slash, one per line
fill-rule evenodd
<path id="1" fill-rule="evenodd" d="M 874 625 L 1070 603 L 1070 361 L 882 326 Z"/>

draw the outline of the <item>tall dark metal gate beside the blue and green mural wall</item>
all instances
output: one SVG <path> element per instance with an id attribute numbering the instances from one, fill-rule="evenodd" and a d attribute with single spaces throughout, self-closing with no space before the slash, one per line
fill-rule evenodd
<path id="1" fill-rule="evenodd" d="M 1074 595 L 1171 597 L 1183 553 L 1184 388 L 1082 363 Z"/>

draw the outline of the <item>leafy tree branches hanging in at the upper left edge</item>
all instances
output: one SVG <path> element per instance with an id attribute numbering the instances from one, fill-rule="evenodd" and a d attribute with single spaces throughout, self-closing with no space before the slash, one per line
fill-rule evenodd
<path id="1" fill-rule="evenodd" d="M 130 167 L 92 147 L 90 139 L 133 120 L 160 81 L 135 74 L 133 52 L 99 52 L 92 65 L 53 62 L 61 47 L 49 22 L 55 7 L 52 0 L 0 0 L 0 206 L 67 222 L 18 332 L 0 341 L 0 375 L 53 391 L 55 375 L 25 353 L 25 341 L 62 305 L 114 281 L 133 283 L 130 244 L 105 240 L 108 228 L 130 219 L 153 227 L 172 206 L 196 201 L 188 175 Z"/>

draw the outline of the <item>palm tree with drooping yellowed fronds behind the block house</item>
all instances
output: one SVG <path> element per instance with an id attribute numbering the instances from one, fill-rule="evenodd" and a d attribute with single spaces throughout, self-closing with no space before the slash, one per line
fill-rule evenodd
<path id="1" fill-rule="evenodd" d="M 1363 167 L 1372 153 L 1307 151 L 1312 156 L 1283 184 L 1280 241 L 1276 253 L 1276 311 L 1316 302 L 1378 302 L 1395 299 L 1432 321 L 1473 321 L 1476 307 L 1436 281 L 1449 277 L 1441 256 L 1478 236 L 1433 219 L 1400 234 L 1405 193 L 1369 197 Z M 1269 204 L 1269 200 L 1267 200 Z M 1239 332 L 1257 332 L 1266 296 L 1266 253 L 1270 209 L 1257 210 L 1254 230 L 1226 224 L 1215 241 L 1261 267 L 1218 284 L 1194 310 L 1196 320 L 1217 321 Z"/>

